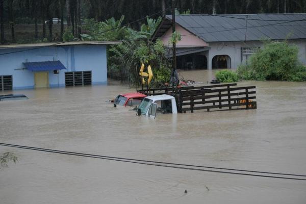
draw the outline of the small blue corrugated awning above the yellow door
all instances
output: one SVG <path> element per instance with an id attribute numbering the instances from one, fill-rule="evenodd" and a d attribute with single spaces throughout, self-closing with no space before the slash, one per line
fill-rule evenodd
<path id="1" fill-rule="evenodd" d="M 52 71 L 57 69 L 66 69 L 60 61 L 46 62 L 23 62 L 25 68 L 30 71 Z"/>

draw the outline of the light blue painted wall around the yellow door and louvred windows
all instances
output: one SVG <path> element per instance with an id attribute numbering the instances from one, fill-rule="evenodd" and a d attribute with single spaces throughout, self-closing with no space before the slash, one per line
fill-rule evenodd
<path id="1" fill-rule="evenodd" d="M 13 75 L 13 89 L 34 88 L 34 72 L 25 69 L 22 62 L 54 60 L 61 61 L 67 69 L 59 74 L 49 71 L 50 87 L 65 86 L 66 71 L 92 71 L 92 84 L 107 84 L 106 45 L 0 49 L 0 54 L 10 52 L 15 53 L 0 55 L 0 75 Z"/>

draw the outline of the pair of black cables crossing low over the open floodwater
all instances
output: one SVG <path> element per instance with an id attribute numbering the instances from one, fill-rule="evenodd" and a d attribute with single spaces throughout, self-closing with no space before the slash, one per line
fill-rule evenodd
<path id="1" fill-rule="evenodd" d="M 84 154 L 84 153 L 73 152 L 73 151 L 61 151 L 61 150 L 56 150 L 56 149 L 46 149 L 46 148 L 30 147 L 30 146 L 23 146 L 23 145 L 7 144 L 7 143 L 0 143 L 0 145 L 1 146 L 8 146 L 8 147 L 15 147 L 15 148 L 22 148 L 22 149 L 31 149 L 31 150 L 36 150 L 36 151 L 51 152 L 51 153 L 57 153 L 57 154 L 63 154 L 63 155 L 89 157 L 89 158 L 120 161 L 120 162 L 127 162 L 127 163 L 151 165 L 151 166 L 161 166 L 161 167 L 186 169 L 186 170 L 196 170 L 196 171 L 207 171 L 207 172 L 215 172 L 215 173 L 227 173 L 227 174 L 259 176 L 259 177 L 270 177 L 270 178 L 274 178 L 274 179 L 289 179 L 289 180 L 306 181 L 306 179 L 301 179 L 301 178 L 298 178 L 298 177 L 276 176 L 276 175 L 289 175 L 289 176 L 306 177 L 306 175 L 302 175 L 302 174 L 276 173 L 276 172 L 265 172 L 265 171 L 251 171 L 251 170 L 242 170 L 242 169 L 218 168 L 218 167 L 210 167 L 210 166 L 178 164 L 178 163 L 158 162 L 158 161 L 149 161 L 149 160 L 137 160 L 137 159 L 130 159 L 130 158 L 92 155 L 92 154 Z M 197 167 L 197 168 L 195 168 L 195 167 Z M 216 169 L 216 170 L 199 169 L 199 168 L 209 168 L 209 169 Z M 223 170 L 230 170 L 230 171 L 223 171 Z M 243 173 L 243 172 L 248 172 L 248 173 Z M 253 173 L 262 173 L 262 174 L 253 174 Z M 266 174 L 266 175 L 263 175 L 263 174 Z M 267 175 L 267 174 L 273 174 L 275 176 Z"/>

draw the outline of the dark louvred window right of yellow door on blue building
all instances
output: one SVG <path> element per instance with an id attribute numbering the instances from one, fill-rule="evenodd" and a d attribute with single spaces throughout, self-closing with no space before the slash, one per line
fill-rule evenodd
<path id="1" fill-rule="evenodd" d="M 66 86 L 91 85 L 91 71 L 69 71 L 65 72 Z"/>

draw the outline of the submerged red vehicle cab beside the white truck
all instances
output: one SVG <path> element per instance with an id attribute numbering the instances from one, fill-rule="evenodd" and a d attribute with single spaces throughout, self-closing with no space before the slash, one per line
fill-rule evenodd
<path id="1" fill-rule="evenodd" d="M 114 100 L 114 107 L 117 105 L 138 106 L 144 97 L 146 97 L 145 94 L 138 92 L 119 94 Z"/>

